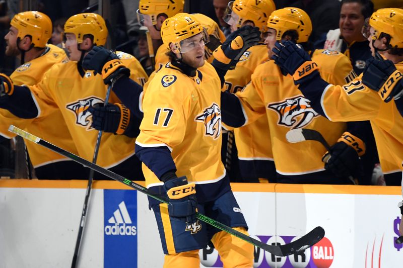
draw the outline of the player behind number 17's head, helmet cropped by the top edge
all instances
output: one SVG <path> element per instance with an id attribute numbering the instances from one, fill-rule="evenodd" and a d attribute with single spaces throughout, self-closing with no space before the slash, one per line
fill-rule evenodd
<path id="1" fill-rule="evenodd" d="M 162 23 L 169 17 L 183 12 L 183 0 L 140 0 L 137 17 L 140 24 L 147 26 L 155 52 L 155 69 L 169 61 L 167 47 L 162 45 Z"/>

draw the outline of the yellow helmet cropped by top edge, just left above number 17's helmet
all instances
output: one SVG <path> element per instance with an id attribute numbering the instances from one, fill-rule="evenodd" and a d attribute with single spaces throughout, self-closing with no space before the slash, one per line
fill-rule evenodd
<path id="1" fill-rule="evenodd" d="M 149 15 L 153 25 L 159 14 L 168 18 L 183 12 L 183 0 L 140 0 L 138 14 Z"/>

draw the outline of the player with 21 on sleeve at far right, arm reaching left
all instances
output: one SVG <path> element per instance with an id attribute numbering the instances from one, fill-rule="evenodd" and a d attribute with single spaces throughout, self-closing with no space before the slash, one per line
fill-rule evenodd
<path id="1" fill-rule="evenodd" d="M 396 108 L 399 91 L 393 89 L 399 85 L 398 71 L 403 70 L 402 21 L 401 9 L 381 9 L 372 14 L 366 36 L 372 56 L 380 54 L 385 60 L 368 60 L 364 72 L 345 85 L 324 81 L 316 71 L 314 59 L 295 45 L 276 44 L 275 48 L 276 63 L 293 75 L 317 113 L 332 121 L 370 120 L 386 185 L 401 182 L 403 118 Z M 304 72 L 307 66 L 313 68 Z M 378 73 L 381 70 L 390 73 L 385 77 Z M 394 101 L 396 105 L 393 98 L 398 99 Z"/>

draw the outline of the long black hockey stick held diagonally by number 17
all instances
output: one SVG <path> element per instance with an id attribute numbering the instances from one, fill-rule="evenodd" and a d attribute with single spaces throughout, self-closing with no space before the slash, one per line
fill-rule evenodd
<path id="1" fill-rule="evenodd" d="M 54 151 L 56 153 L 59 153 L 59 154 L 64 155 L 66 157 L 69 157 L 69 158 L 75 160 L 76 162 L 78 162 L 80 164 L 83 164 L 84 166 L 88 166 L 89 168 L 94 169 L 95 171 L 112 178 L 115 181 L 123 183 L 123 184 L 127 185 L 130 188 L 133 188 L 133 189 L 135 189 L 135 190 L 137 190 L 139 192 L 142 192 L 143 194 L 148 195 L 151 198 L 154 198 L 154 199 L 156 199 L 156 200 L 158 200 L 160 202 L 163 202 L 163 203 L 169 203 L 165 198 L 154 196 L 153 194 L 151 194 L 147 188 L 145 188 L 145 187 L 143 187 L 143 186 L 141 186 L 139 184 L 136 184 L 136 183 L 128 180 L 127 178 L 122 177 L 122 176 L 120 176 L 120 175 L 118 175 L 118 174 L 116 174 L 116 173 L 114 173 L 114 172 L 112 172 L 112 171 L 110 171 L 108 169 L 105 169 L 105 168 L 103 168 L 103 167 L 101 167 L 101 166 L 99 166 L 97 164 L 94 164 L 94 163 L 92 163 L 90 161 L 87 161 L 87 160 L 85 160 L 85 159 L 83 159 L 83 158 L 81 158 L 81 157 L 79 157 L 79 156 L 77 156 L 77 155 L 75 155 L 73 153 L 65 151 L 65 150 L 63 150 L 63 149 L 61 149 L 61 148 L 59 148 L 59 147 L 47 142 L 47 141 L 44 141 L 44 140 L 42 140 L 42 139 L 40 139 L 40 138 L 38 138 L 38 137 L 36 137 L 36 136 L 24 131 L 22 129 L 19 129 L 19 128 L 11 125 L 9 127 L 9 131 L 11 131 L 11 132 L 13 132 L 13 133 L 15 133 L 15 134 L 27 139 L 27 140 L 30 140 L 32 142 L 35 142 L 35 143 L 39 144 L 39 145 L 42 145 L 42 146 L 44 146 L 44 147 L 46 147 L 46 148 L 48 148 L 48 149 L 50 149 L 50 150 L 52 150 L 52 151 Z M 265 250 L 267 252 L 270 252 L 270 253 L 272 253 L 273 255 L 276 255 L 276 256 L 287 256 L 287 255 L 295 254 L 295 253 L 298 253 L 298 252 L 302 252 L 306 248 L 311 247 L 314 244 L 316 244 L 324 236 L 323 228 L 318 226 L 318 227 L 314 228 L 312 231 L 310 231 L 309 233 L 307 233 L 306 235 L 304 235 L 301 238 L 299 238 L 298 240 L 295 240 L 294 242 L 291 242 L 289 244 L 267 245 L 267 244 L 264 244 L 264 243 L 254 239 L 254 238 L 252 238 L 252 237 L 250 237 L 248 235 L 245 235 L 245 234 L 243 234 L 241 232 L 238 232 L 238 231 L 232 229 L 231 227 L 229 227 L 227 225 L 224 225 L 224 224 L 222 224 L 222 223 L 220 223 L 220 222 L 218 222 L 218 221 L 216 221 L 216 220 L 214 220 L 212 218 L 209 218 L 209 217 L 207 217 L 207 216 L 205 216 L 203 214 L 200 214 L 198 212 L 196 212 L 196 218 L 201 220 L 201 221 L 204 221 L 204 222 L 206 222 L 206 223 L 208 223 L 208 224 L 210 224 L 210 225 L 212 225 L 212 226 L 214 226 L 214 227 L 216 227 L 216 228 L 218 228 L 218 229 L 220 229 L 222 231 L 225 231 L 225 232 L 230 233 L 230 234 L 232 234 L 232 235 L 234 235 L 234 236 L 236 236 L 236 237 L 238 237 L 240 239 L 243 239 L 246 242 L 249 242 L 252 245 L 257 246 L 257 247 L 259 247 L 259 248 L 261 248 L 261 249 L 263 249 L 263 250 Z"/>

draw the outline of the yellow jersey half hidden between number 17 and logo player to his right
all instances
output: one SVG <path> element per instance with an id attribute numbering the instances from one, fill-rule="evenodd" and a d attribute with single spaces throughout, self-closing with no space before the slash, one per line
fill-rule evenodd
<path id="1" fill-rule="evenodd" d="M 266 45 L 256 45 L 245 51 L 235 69 L 229 70 L 225 75 L 226 90 L 231 93 L 241 91 L 250 82 L 257 65 L 267 59 Z M 273 161 L 271 140 L 264 138 L 270 135 L 266 117 L 262 116 L 253 123 L 235 128 L 234 135 L 239 160 Z"/>

